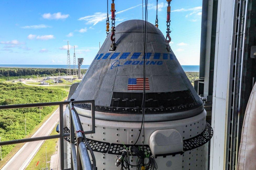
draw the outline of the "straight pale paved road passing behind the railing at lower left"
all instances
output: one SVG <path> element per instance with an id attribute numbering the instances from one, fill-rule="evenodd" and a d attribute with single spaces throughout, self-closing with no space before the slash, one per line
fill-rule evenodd
<path id="1" fill-rule="evenodd" d="M 45 123 L 32 135 L 32 137 L 47 136 L 54 129 L 59 120 L 59 108 L 45 121 Z M 3 166 L 3 170 L 25 169 L 34 157 L 43 141 L 25 143 L 22 148 Z"/>

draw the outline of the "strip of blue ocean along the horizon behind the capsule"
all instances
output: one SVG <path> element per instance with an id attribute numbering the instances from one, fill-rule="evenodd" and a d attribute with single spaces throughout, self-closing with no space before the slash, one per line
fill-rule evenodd
<path id="1" fill-rule="evenodd" d="M 81 69 L 88 69 L 90 65 L 82 65 Z M 0 67 L 17 67 L 17 68 L 67 68 L 66 65 L 29 65 L 29 64 L 0 64 Z M 71 65 L 71 68 L 73 66 Z M 199 72 L 199 65 L 182 65 L 185 72 Z"/>

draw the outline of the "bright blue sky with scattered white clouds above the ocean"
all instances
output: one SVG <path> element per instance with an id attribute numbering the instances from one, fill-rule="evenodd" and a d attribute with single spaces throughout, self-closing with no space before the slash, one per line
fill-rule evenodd
<path id="1" fill-rule="evenodd" d="M 142 19 L 141 4 L 115 0 L 116 25 Z M 159 29 L 164 35 L 166 6 L 166 0 L 158 0 Z M 199 65 L 201 6 L 201 0 L 171 2 L 170 46 L 181 65 Z M 70 41 L 76 57 L 89 65 L 106 38 L 106 0 L 0 1 L 0 15 L 1 64 L 66 64 Z M 149 0 L 148 21 L 154 24 L 155 19 L 156 0 Z M 70 54 L 72 61 L 73 48 Z"/>

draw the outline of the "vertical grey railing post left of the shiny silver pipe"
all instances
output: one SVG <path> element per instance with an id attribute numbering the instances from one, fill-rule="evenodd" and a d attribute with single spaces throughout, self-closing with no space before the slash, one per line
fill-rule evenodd
<path id="1" fill-rule="evenodd" d="M 60 104 L 60 169 L 64 169 L 64 141 L 63 141 L 63 104 Z"/>

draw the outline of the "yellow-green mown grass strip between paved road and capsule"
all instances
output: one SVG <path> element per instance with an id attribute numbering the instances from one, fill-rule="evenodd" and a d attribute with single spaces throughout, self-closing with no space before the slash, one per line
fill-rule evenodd
<path id="1" fill-rule="evenodd" d="M 52 130 L 50 135 L 57 135 L 56 127 Z M 58 146 L 58 138 L 57 139 L 49 139 L 45 140 L 45 142 L 42 144 L 41 148 L 38 150 L 34 158 L 29 163 L 28 167 L 26 167 L 26 170 L 32 170 L 32 169 L 41 169 L 46 167 L 46 152 L 47 152 L 47 168 L 50 169 L 50 160 L 51 156 L 56 154 Z M 45 149 L 45 147 L 47 147 Z M 37 162 L 39 161 L 38 166 L 36 166 Z"/>

